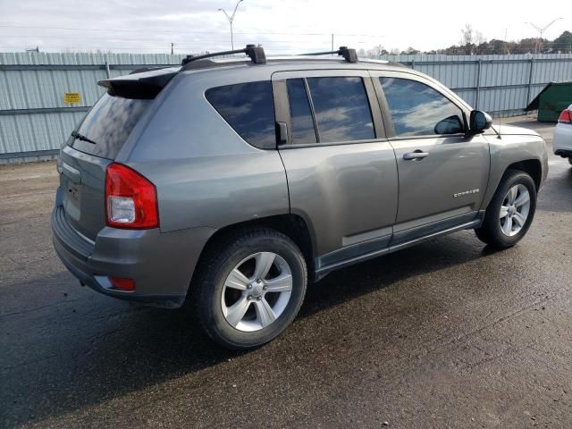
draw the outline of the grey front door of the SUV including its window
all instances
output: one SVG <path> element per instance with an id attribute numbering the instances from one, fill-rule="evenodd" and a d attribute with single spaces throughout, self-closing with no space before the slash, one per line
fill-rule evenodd
<path id="1" fill-rule="evenodd" d="M 467 106 L 433 81 L 372 71 L 400 178 L 391 244 L 473 221 L 490 167 L 483 135 L 467 136 Z"/>

